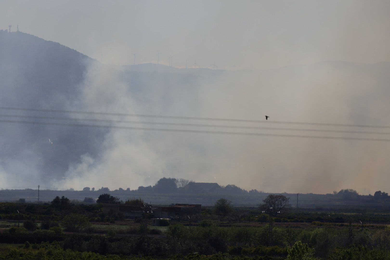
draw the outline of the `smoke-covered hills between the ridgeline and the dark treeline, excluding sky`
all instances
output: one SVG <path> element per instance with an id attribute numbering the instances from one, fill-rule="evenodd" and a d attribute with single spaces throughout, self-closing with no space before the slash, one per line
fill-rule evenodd
<path id="1" fill-rule="evenodd" d="M 260 120 L 267 114 L 271 116 L 267 122 L 386 126 L 389 70 L 387 62 L 321 62 L 259 72 L 176 69 L 156 64 L 119 67 L 102 65 L 75 50 L 33 35 L 4 31 L 0 34 L 0 102 L 4 107 Z M 385 190 L 390 178 L 386 156 L 390 148 L 383 141 L 16 124 L 4 120 L 84 125 L 97 124 L 86 118 L 131 120 L 144 123 L 115 123 L 115 126 L 259 132 L 145 123 L 229 122 L 11 110 L 1 110 L 1 114 L 0 181 L 4 187 L 41 184 L 82 189 L 104 185 L 116 189 L 126 183 L 131 189 L 138 186 L 147 189 L 162 177 L 180 176 L 196 182 L 235 184 L 246 190 L 328 193 L 347 186 L 367 194 Z M 275 126 L 270 124 L 235 125 Z M 387 138 L 383 134 L 271 129 L 263 129 L 261 133 Z M 174 181 L 172 185 L 177 186 Z M 229 188 L 236 189 L 234 185 Z"/>

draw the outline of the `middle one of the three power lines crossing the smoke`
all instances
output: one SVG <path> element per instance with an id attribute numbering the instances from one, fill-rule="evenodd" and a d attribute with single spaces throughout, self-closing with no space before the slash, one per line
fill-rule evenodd
<path id="1" fill-rule="evenodd" d="M 17 117 L 17 118 L 50 119 L 50 120 L 78 120 L 78 121 L 128 123 L 128 124 L 152 124 L 152 125 L 165 125 L 165 126 L 221 127 L 221 128 L 239 128 L 239 129 L 261 129 L 261 130 L 282 130 L 282 131 L 310 131 L 310 132 L 349 133 L 349 134 L 390 134 L 389 132 L 369 132 L 369 131 L 349 131 L 349 130 L 329 130 L 329 129 L 302 129 L 302 128 L 259 127 L 259 126 L 231 126 L 231 125 L 227 126 L 227 125 L 212 125 L 212 124 L 146 122 L 146 121 L 128 121 L 128 120 L 111 120 L 111 119 L 86 119 L 86 118 L 69 118 L 69 117 L 43 117 L 43 116 L 31 116 L 31 115 L 2 115 L 2 114 L 0 114 L 0 117 Z"/>

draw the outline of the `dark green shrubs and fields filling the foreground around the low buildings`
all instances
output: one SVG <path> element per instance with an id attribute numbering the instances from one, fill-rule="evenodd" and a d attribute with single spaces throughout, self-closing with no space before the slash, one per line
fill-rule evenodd
<path id="1" fill-rule="evenodd" d="M 301 209 L 273 216 L 263 213 L 265 203 L 273 202 L 235 208 L 220 199 L 197 221 L 160 227 L 150 225 L 153 216 L 123 220 L 103 213 L 101 203 L 66 197 L 0 203 L 0 259 L 390 259 L 390 227 L 373 224 L 389 223 L 387 212 Z"/>

